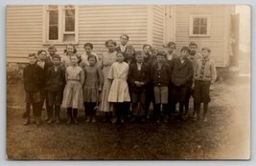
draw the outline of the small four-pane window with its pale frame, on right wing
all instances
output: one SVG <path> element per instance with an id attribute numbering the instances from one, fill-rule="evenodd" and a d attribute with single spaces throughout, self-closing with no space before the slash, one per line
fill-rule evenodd
<path id="1" fill-rule="evenodd" d="M 190 36 L 209 36 L 210 35 L 210 16 L 191 15 L 190 16 Z"/>

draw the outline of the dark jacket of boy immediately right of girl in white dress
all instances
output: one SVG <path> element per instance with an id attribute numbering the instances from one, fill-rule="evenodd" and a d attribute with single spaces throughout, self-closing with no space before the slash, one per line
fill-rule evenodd
<path id="1" fill-rule="evenodd" d="M 144 85 L 137 87 L 135 81 L 144 82 Z M 128 69 L 128 83 L 132 92 L 144 91 L 150 82 L 150 68 L 146 63 L 142 63 L 141 70 L 138 71 L 137 63 L 132 63 Z"/>

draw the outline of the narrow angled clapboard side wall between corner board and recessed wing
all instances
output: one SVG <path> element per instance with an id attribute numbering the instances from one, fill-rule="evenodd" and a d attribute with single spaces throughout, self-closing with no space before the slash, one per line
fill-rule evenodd
<path id="1" fill-rule="evenodd" d="M 154 5 L 152 10 L 152 46 L 162 49 L 164 41 L 164 6 Z"/>

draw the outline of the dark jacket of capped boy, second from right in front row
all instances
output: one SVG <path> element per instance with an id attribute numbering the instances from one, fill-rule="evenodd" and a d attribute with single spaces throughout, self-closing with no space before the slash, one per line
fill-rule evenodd
<path id="1" fill-rule="evenodd" d="M 180 58 L 175 58 L 170 68 L 171 82 L 175 86 L 186 86 L 193 79 L 193 64 L 187 58 L 183 63 Z"/>

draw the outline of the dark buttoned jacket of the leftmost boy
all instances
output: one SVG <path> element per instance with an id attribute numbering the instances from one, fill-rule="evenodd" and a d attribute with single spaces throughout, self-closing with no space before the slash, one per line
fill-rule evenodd
<path id="1" fill-rule="evenodd" d="M 29 64 L 23 69 L 23 80 L 25 92 L 39 92 L 43 85 L 43 70 L 38 65 Z"/>

